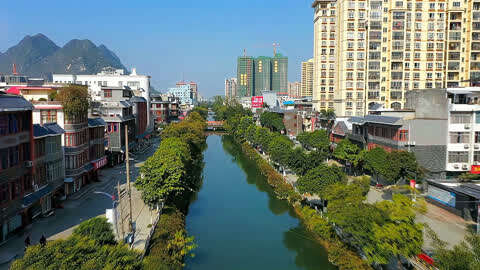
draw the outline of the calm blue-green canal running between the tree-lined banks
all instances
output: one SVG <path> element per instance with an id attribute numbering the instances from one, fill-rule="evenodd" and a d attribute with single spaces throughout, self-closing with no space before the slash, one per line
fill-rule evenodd
<path id="1" fill-rule="evenodd" d="M 203 186 L 187 216 L 198 248 L 186 269 L 336 269 L 231 137 L 207 143 Z"/>

